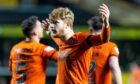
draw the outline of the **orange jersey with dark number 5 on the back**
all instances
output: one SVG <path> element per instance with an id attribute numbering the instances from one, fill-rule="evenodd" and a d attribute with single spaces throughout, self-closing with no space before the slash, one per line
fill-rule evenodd
<path id="1" fill-rule="evenodd" d="M 47 60 L 57 61 L 58 52 L 37 42 L 22 41 L 10 53 L 11 84 L 45 84 Z"/>

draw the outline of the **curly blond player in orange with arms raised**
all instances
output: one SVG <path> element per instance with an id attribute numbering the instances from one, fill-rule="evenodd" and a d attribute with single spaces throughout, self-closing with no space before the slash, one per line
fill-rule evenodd
<path id="1" fill-rule="evenodd" d="M 104 18 L 102 32 L 99 35 L 88 33 L 74 33 L 74 14 L 68 8 L 56 8 L 49 14 L 49 21 L 53 24 L 49 35 L 58 44 L 60 53 L 69 52 L 58 57 L 58 74 L 56 84 L 88 84 L 88 71 L 92 51 L 91 46 L 99 45 L 109 40 L 110 27 L 108 9 L 103 4 L 99 8 Z M 43 24 L 48 26 L 47 21 Z"/>

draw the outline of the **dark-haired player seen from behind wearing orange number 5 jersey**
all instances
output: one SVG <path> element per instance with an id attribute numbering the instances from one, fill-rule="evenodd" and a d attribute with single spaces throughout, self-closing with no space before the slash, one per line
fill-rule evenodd
<path id="1" fill-rule="evenodd" d="M 45 84 L 47 61 L 57 61 L 58 52 L 39 42 L 43 28 L 36 16 L 23 21 L 22 31 L 26 39 L 14 45 L 10 54 L 11 84 Z"/>

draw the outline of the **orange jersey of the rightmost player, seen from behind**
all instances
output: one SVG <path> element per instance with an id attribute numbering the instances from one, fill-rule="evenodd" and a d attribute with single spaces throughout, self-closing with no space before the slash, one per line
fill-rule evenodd
<path id="1" fill-rule="evenodd" d="M 89 84 L 112 84 L 109 57 L 118 57 L 118 47 L 113 42 L 107 42 L 91 49 L 93 55 L 90 62 Z"/>

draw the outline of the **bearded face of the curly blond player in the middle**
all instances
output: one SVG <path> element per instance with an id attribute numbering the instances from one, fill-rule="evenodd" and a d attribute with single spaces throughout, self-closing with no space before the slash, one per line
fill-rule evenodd
<path id="1" fill-rule="evenodd" d="M 64 35 L 64 31 L 66 28 L 66 23 L 63 20 L 57 20 L 56 22 L 53 23 L 54 27 L 51 29 L 51 35 L 57 36 L 57 37 L 62 37 Z"/>

